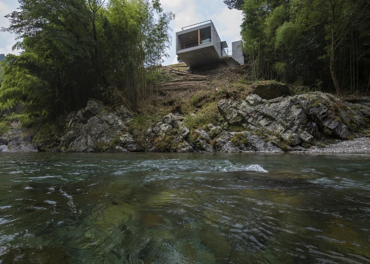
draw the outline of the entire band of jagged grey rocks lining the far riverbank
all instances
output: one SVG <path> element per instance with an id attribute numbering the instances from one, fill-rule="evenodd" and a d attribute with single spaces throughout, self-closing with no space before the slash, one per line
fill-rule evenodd
<path id="1" fill-rule="evenodd" d="M 135 121 L 130 123 L 132 115 L 124 106 L 109 113 L 100 103 L 90 100 L 84 109 L 68 116 L 67 130 L 60 138 L 60 150 L 305 151 L 312 145 L 319 146 L 317 140 L 321 138 L 353 138 L 363 128 L 369 128 L 370 123 L 368 97 L 342 102 L 322 92 L 270 100 L 252 94 L 240 101 L 223 99 L 217 106 L 221 123 L 189 129 L 184 126 L 184 116 L 168 114 L 161 122 L 141 131 L 142 126 L 134 125 Z M 37 151 L 31 142 L 31 136 L 14 123 L 13 129 L 0 137 L 0 151 Z"/>

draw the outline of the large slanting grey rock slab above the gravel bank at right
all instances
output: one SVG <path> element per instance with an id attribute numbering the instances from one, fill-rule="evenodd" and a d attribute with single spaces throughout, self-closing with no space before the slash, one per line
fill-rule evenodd
<path id="1" fill-rule="evenodd" d="M 258 95 L 249 95 L 239 102 L 223 99 L 218 109 L 230 125 L 265 136 L 266 141 L 284 150 L 312 143 L 322 136 L 346 139 L 350 131 L 369 123 L 369 116 L 364 116 L 368 115 L 365 108 L 361 112 L 322 92 L 269 101 Z"/>

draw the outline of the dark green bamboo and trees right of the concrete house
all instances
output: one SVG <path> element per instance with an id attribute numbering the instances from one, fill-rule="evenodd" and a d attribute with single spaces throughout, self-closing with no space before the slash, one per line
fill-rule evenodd
<path id="1" fill-rule="evenodd" d="M 246 53 L 256 79 L 340 94 L 370 84 L 368 0 L 225 0 L 243 11 Z"/>

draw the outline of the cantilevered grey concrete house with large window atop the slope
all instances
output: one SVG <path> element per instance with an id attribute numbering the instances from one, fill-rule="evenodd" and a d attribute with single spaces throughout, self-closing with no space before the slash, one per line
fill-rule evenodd
<path id="1" fill-rule="evenodd" d="M 176 54 L 189 67 L 215 62 L 226 62 L 229 66 L 244 64 L 244 53 L 239 45 L 232 43 L 232 54 L 226 41 L 221 41 L 211 20 L 183 27 L 176 32 Z"/>

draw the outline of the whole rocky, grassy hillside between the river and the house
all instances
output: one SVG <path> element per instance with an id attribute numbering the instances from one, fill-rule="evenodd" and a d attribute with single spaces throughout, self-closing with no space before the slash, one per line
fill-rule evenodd
<path id="1" fill-rule="evenodd" d="M 165 82 L 140 102 L 137 113 L 125 105 L 90 100 L 84 109 L 54 121 L 40 118 L 23 121 L 20 127 L 16 115 L 7 117 L 1 123 L 7 135 L 1 138 L 0 149 L 281 152 L 325 147 L 369 134 L 368 97 L 338 99 L 310 87 L 252 83 L 248 65 L 182 71 L 185 68 L 184 64 L 158 67 L 158 79 Z"/>

